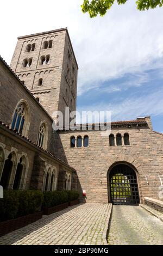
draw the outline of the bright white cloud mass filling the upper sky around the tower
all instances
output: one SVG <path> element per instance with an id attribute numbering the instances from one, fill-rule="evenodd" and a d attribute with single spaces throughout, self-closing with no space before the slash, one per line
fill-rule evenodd
<path id="1" fill-rule="evenodd" d="M 17 36 L 68 27 L 79 64 L 78 94 L 125 74 L 143 74 L 163 56 L 162 8 L 140 12 L 135 1 L 90 19 L 82 0 L 6 0 L 1 3 L 2 57 L 10 63 Z M 3 40 L 2 40 L 3 39 Z M 156 63 L 155 63 L 156 60 Z M 143 74 L 144 75 L 144 74 Z M 142 79 L 142 81 L 140 81 Z M 145 76 L 136 78 L 139 86 Z M 139 81 L 138 81 L 139 80 Z M 131 81 L 128 86 L 135 86 Z M 112 90 L 121 88 L 112 86 Z"/>

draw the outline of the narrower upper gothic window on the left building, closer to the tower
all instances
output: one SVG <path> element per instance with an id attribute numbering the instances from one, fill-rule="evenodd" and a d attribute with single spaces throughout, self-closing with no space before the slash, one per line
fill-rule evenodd
<path id="1" fill-rule="evenodd" d="M 37 138 L 37 145 L 41 148 L 47 148 L 47 140 L 48 140 L 48 131 L 47 124 L 42 122 L 39 129 L 39 135 Z"/>

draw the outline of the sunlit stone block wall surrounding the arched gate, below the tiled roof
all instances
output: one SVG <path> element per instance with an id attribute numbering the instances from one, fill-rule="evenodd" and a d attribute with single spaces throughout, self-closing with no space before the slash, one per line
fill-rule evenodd
<path id="1" fill-rule="evenodd" d="M 86 190 L 86 200 L 92 203 L 110 202 L 108 172 L 116 163 L 129 164 L 136 172 L 141 202 L 143 197 L 158 198 L 163 168 L 163 136 L 152 130 L 150 118 L 145 126 L 112 127 L 111 133 L 129 133 L 130 145 L 109 145 L 101 131 L 60 131 L 56 142 L 58 156 L 76 168 L 79 190 Z M 123 126 L 123 127 L 122 127 Z M 71 136 L 89 136 L 88 148 L 70 148 Z M 148 184 L 146 180 L 148 179 Z"/>

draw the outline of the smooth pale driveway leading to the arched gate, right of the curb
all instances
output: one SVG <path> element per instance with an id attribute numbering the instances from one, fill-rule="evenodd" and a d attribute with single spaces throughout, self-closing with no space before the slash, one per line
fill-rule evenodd
<path id="1" fill-rule="evenodd" d="M 163 245 L 163 222 L 140 206 L 114 205 L 109 245 Z"/>

